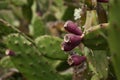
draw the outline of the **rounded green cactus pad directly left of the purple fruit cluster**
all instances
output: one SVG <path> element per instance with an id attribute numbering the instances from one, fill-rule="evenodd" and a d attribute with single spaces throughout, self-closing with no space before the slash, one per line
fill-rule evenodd
<path id="1" fill-rule="evenodd" d="M 51 59 L 60 59 L 66 60 L 67 54 L 61 50 L 60 44 L 62 40 L 58 37 L 53 36 L 41 36 L 38 37 L 36 40 L 36 45 L 39 48 L 39 51 L 46 57 Z"/>

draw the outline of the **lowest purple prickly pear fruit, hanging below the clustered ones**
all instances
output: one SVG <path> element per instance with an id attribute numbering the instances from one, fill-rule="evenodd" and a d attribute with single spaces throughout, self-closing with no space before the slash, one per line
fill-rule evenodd
<path id="1" fill-rule="evenodd" d="M 85 61 L 86 61 L 85 56 L 80 56 L 77 54 L 73 54 L 68 58 L 68 64 L 71 66 L 78 66 Z"/>

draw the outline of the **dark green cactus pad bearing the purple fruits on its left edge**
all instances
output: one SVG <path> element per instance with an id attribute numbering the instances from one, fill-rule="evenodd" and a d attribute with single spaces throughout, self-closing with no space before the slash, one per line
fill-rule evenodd
<path id="1" fill-rule="evenodd" d="M 108 48 L 107 39 L 105 38 L 106 29 L 98 29 L 85 35 L 83 43 L 93 50 L 105 50 Z"/>

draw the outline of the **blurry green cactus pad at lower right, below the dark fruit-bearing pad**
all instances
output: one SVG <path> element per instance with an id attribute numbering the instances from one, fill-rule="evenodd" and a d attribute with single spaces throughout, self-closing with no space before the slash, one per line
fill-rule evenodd
<path id="1" fill-rule="evenodd" d="M 85 53 L 87 54 L 89 66 L 92 66 L 91 70 L 94 73 L 93 77 L 95 78 L 97 76 L 97 78 L 105 80 L 108 76 L 108 60 L 107 60 L 106 51 L 93 50 L 91 52 L 86 51 Z"/>

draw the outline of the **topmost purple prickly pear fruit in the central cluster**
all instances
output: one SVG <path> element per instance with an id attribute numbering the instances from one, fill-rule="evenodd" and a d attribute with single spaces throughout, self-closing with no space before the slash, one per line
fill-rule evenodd
<path id="1" fill-rule="evenodd" d="M 76 35 L 82 35 L 82 31 L 78 28 L 77 24 L 75 24 L 74 22 L 72 22 L 70 20 L 65 22 L 64 28 L 69 33 L 73 33 Z"/>

